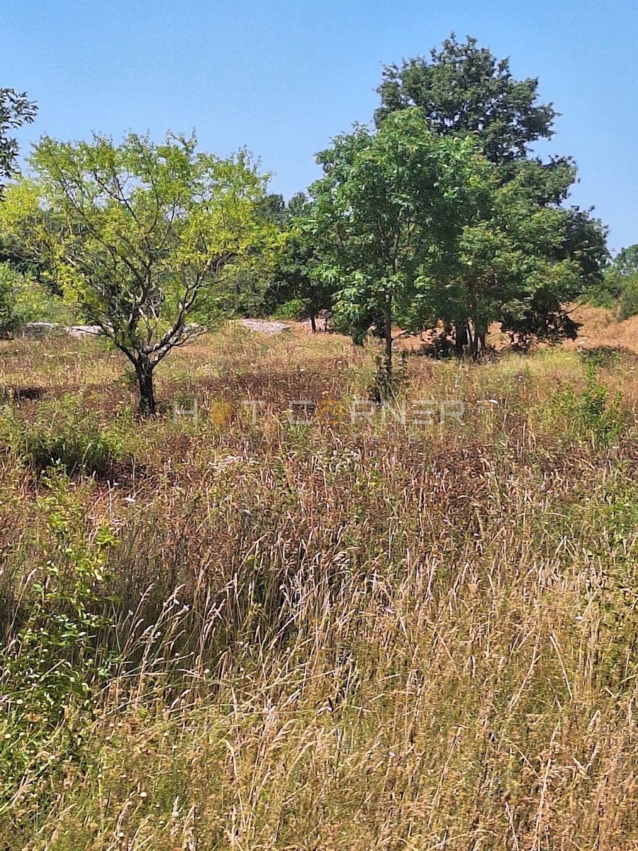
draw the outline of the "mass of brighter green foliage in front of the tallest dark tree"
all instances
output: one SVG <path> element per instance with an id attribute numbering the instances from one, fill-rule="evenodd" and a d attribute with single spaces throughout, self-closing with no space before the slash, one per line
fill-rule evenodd
<path id="1" fill-rule="evenodd" d="M 393 323 L 442 323 L 472 357 L 493 322 L 523 347 L 533 335 L 575 335 L 563 305 L 583 288 L 590 256 L 567 250 L 577 219 L 539 197 L 527 170 L 503 183 L 470 138 L 430 134 L 414 108 L 376 134 L 339 137 L 320 162 L 314 244 L 339 290 L 338 327 L 354 340 L 372 325 L 389 362 Z"/>

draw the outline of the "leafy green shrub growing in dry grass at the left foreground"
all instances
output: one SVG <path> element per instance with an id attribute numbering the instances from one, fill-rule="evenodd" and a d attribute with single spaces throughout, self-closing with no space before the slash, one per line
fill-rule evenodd
<path id="1" fill-rule="evenodd" d="M 37 509 L 47 542 L 14 607 L 3 654 L 0 813 L 28 812 L 32 803 L 46 810 L 43 792 L 81 757 L 117 659 L 104 644 L 115 602 L 106 591 L 107 554 L 117 537 L 105 523 L 88 534 L 84 506 L 62 472 L 49 471 L 43 485 Z"/>

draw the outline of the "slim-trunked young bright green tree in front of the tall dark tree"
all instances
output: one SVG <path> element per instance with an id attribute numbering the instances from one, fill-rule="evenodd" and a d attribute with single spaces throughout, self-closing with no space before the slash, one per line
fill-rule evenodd
<path id="1" fill-rule="evenodd" d="M 393 326 L 422 330 L 441 316 L 437 294 L 457 267 L 464 226 L 489 207 L 493 168 L 473 140 L 432 134 L 418 109 L 377 132 L 338 136 L 317 162 L 324 174 L 310 191 L 322 273 L 338 284 L 346 322 L 376 323 L 390 377 Z"/>

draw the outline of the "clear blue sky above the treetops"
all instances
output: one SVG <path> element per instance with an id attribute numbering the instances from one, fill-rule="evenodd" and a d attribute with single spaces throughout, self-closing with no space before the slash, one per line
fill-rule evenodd
<path id="1" fill-rule="evenodd" d="M 0 86 L 40 107 L 24 152 L 44 133 L 196 129 L 205 150 L 248 147 L 285 197 L 372 120 L 383 63 L 473 35 L 540 78 L 562 116 L 538 152 L 576 158 L 572 201 L 612 249 L 638 243 L 636 0 L 2 0 L 0 31 Z"/>

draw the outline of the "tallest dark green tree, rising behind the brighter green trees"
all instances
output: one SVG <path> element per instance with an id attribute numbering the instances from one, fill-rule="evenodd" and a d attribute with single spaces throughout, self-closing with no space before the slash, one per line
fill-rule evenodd
<path id="1" fill-rule="evenodd" d="M 550 157 L 542 162 L 532 156 L 534 142 L 550 139 L 558 113 L 552 104 L 538 98 L 538 78 L 516 80 L 508 59 L 498 60 L 476 38 L 464 43 L 452 35 L 441 49 L 405 60 L 402 66 L 385 66 L 379 86 L 381 106 L 375 113 L 378 126 L 396 111 L 418 107 L 432 133 L 476 140 L 496 168 L 498 182 L 513 181 L 516 194 L 527 196 L 530 208 L 545 207 L 546 220 L 556 219 L 556 208 L 565 205 L 570 187 L 576 180 L 571 157 Z M 569 207 L 561 220 L 561 240 L 553 240 L 551 260 L 557 271 L 561 262 L 578 267 L 578 279 L 571 272 L 548 288 L 537 288 L 527 309 L 504 311 L 498 317 L 504 326 L 523 337 L 531 334 L 573 333 L 566 311 L 557 299 L 571 298 L 584 290 L 600 286 L 602 269 L 607 262 L 607 231 L 590 210 Z M 498 231 L 498 226 L 496 226 Z M 539 248 L 549 248 L 541 240 Z M 538 252 L 542 254 L 542 252 Z M 537 259 L 538 259 L 537 254 Z M 564 267 L 565 268 L 565 267 Z M 519 284 L 526 285 L 524 278 Z M 464 323 L 455 323 L 455 339 L 460 350 L 471 343 L 471 331 Z"/>

